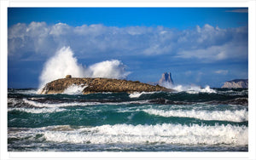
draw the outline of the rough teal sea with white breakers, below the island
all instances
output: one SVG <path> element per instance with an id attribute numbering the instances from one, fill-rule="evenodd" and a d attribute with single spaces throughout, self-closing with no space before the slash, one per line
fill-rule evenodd
<path id="1" fill-rule="evenodd" d="M 248 151 L 248 90 L 8 90 L 8 151 Z"/>

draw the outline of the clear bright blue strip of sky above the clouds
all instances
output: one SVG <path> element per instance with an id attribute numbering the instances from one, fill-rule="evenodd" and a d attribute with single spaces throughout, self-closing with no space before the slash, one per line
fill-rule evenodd
<path id="1" fill-rule="evenodd" d="M 247 25 L 246 8 L 9 8 L 8 25 L 45 21 L 69 26 L 166 26 L 187 29 L 194 26 L 221 28 Z"/>

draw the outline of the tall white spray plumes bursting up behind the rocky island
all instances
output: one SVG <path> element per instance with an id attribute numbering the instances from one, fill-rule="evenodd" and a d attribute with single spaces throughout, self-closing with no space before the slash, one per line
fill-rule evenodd
<path id="1" fill-rule="evenodd" d="M 42 90 L 46 83 L 66 77 L 66 75 L 124 79 L 130 73 L 130 71 L 125 71 L 125 65 L 120 60 L 105 60 L 86 68 L 78 63 L 70 47 L 63 47 L 45 62 L 44 69 L 39 77 L 38 92 L 40 92 L 40 89 Z"/>

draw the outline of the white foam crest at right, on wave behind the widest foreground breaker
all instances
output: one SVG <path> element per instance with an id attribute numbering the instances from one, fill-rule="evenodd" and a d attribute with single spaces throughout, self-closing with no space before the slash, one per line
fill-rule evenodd
<path id="1" fill-rule="evenodd" d="M 248 121 L 247 110 L 236 111 L 183 111 L 183 110 L 143 110 L 148 114 L 158 115 L 162 117 L 193 117 L 201 120 L 217 120 L 217 121 L 230 121 L 230 122 L 244 122 Z"/>

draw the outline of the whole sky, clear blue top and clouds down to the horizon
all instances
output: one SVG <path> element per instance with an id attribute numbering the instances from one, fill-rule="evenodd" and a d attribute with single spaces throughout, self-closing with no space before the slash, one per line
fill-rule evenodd
<path id="1" fill-rule="evenodd" d="M 8 87 L 38 88 L 43 74 L 53 74 L 58 66 L 63 70 L 73 60 L 86 72 L 79 75 L 117 72 L 117 77 L 149 83 L 172 72 L 176 85 L 218 88 L 248 77 L 247 11 L 9 8 Z M 61 51 L 70 57 L 57 56 Z M 50 60 L 58 62 L 49 67 Z"/>

